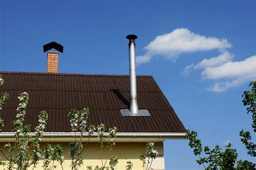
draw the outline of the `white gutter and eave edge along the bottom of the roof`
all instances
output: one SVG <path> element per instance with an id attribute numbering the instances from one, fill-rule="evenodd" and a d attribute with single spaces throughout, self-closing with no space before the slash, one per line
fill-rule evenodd
<path id="1" fill-rule="evenodd" d="M 31 139 L 35 137 L 35 132 L 29 133 Z M 104 137 L 107 141 L 107 134 L 104 133 Z M 71 142 L 75 141 L 75 135 L 80 136 L 80 133 L 75 132 L 44 132 L 42 142 Z M 0 133 L 0 143 L 14 142 L 14 132 L 2 132 Z M 186 133 L 159 133 L 159 132 L 118 132 L 116 134 L 116 142 L 163 142 L 166 139 L 186 139 Z M 88 140 L 88 133 L 83 133 L 82 141 Z M 93 134 L 90 138 L 90 142 L 97 142 L 97 133 Z"/>

